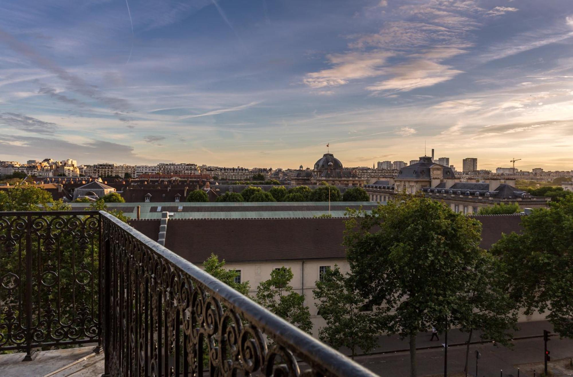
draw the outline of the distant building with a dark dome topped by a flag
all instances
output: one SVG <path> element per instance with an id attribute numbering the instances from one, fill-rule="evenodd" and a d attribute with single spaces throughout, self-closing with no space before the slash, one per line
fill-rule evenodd
<path id="1" fill-rule="evenodd" d="M 313 170 L 308 167 L 303 169 L 301 165 L 293 174 L 292 181 L 294 185 L 320 185 L 321 182 L 326 182 L 332 186 L 362 187 L 366 179 L 360 178 L 353 170 L 344 169 L 342 162 L 332 153 L 325 153 L 316 161 Z"/>

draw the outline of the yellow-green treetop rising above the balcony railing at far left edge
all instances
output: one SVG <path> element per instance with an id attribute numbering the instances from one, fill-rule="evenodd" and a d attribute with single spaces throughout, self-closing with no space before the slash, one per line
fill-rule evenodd
<path id="1" fill-rule="evenodd" d="M 36 186 L 18 185 L 0 191 L 0 211 L 46 211 L 50 209 L 46 204 L 53 202 L 52 194 Z"/>

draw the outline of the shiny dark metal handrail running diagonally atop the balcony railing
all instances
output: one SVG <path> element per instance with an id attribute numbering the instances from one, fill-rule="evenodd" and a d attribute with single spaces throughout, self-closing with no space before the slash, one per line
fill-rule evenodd
<path id="1" fill-rule="evenodd" d="M 303 362 L 308 363 L 316 372 L 328 376 L 375 376 L 371 371 L 348 359 L 333 348 L 319 342 L 319 340 L 312 338 L 312 336 L 299 328 L 253 302 L 247 296 L 227 286 L 221 280 L 214 278 L 193 263 L 176 255 L 128 224 L 121 222 L 115 216 L 104 211 L 101 211 L 100 214 L 106 221 L 128 232 L 161 258 L 168 260 L 175 267 L 191 276 L 196 282 L 201 283 L 207 288 L 210 296 L 221 300 L 221 303 L 225 306 L 232 307 L 251 326 L 254 325 L 270 336 L 274 342 L 299 356 Z"/>

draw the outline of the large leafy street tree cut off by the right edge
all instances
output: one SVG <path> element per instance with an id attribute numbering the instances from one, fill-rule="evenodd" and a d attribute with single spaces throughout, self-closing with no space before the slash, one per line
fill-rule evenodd
<path id="1" fill-rule="evenodd" d="M 573 196 L 533 210 L 521 226 L 521 234 L 504 234 L 492 246 L 511 276 L 511 293 L 525 314 L 547 311 L 555 331 L 573 338 Z"/>

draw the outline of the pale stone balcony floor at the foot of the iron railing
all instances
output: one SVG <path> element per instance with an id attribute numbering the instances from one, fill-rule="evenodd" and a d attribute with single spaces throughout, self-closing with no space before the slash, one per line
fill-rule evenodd
<path id="1" fill-rule="evenodd" d="M 25 354 L 0 355 L 2 377 L 100 377 L 104 372 L 104 354 L 92 347 L 37 352 L 31 362 L 22 362 Z"/>

